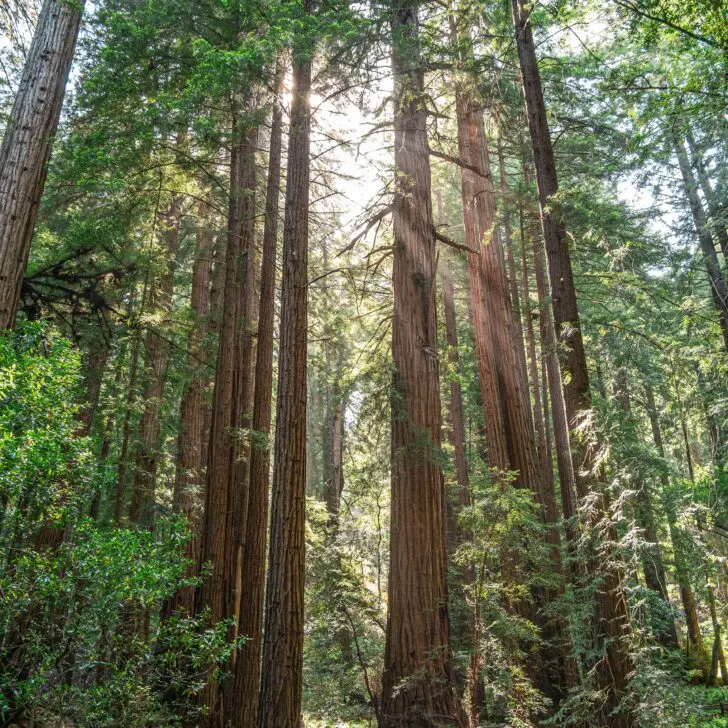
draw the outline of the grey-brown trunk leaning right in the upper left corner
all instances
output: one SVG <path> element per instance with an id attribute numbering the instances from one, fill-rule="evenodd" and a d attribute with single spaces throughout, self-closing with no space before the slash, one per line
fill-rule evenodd
<path id="1" fill-rule="evenodd" d="M 0 147 L 0 329 L 15 324 L 83 0 L 45 0 Z"/>

